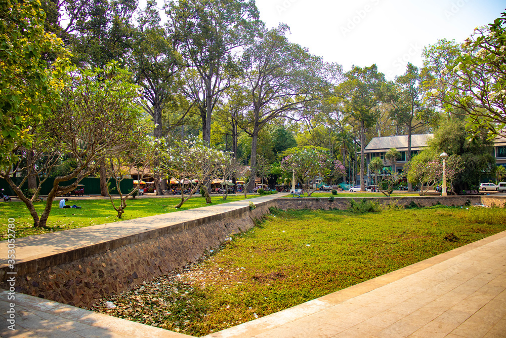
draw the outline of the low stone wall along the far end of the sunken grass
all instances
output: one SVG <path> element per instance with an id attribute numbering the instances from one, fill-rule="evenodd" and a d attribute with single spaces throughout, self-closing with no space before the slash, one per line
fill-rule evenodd
<path id="1" fill-rule="evenodd" d="M 411 202 L 416 203 L 418 206 L 428 207 L 439 203 L 449 206 L 465 205 L 467 200 L 471 201 L 471 205 L 482 204 L 482 197 L 488 196 L 405 196 L 405 197 L 336 197 L 332 202 L 328 201 L 328 198 L 320 198 L 319 201 L 316 198 L 278 198 L 276 200 L 278 208 L 282 210 L 286 209 L 339 209 L 344 210 L 350 207 L 350 199 L 356 202 L 362 200 L 373 200 L 383 205 L 397 204 L 399 206 L 409 205 Z M 500 202 L 502 200 L 502 202 Z M 506 202 L 506 197 L 496 197 L 494 200 L 496 205 Z M 492 203 L 492 200 L 490 200 Z"/>

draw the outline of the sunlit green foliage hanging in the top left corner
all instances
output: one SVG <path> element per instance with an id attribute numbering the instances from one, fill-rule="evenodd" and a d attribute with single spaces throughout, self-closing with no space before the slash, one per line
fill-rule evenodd
<path id="1" fill-rule="evenodd" d="M 45 18 L 39 1 L 0 1 L 0 166 L 17 162 L 13 149 L 29 147 L 30 130 L 61 102 L 69 53 L 44 31 Z M 48 53 L 58 56 L 51 64 Z"/>

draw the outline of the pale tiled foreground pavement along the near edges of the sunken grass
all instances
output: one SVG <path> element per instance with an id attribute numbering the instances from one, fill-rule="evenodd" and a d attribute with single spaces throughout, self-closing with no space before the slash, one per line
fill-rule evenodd
<path id="1" fill-rule="evenodd" d="M 11 331 L 6 292 L 2 337 L 185 336 L 23 294 Z M 207 338 L 406 336 L 506 337 L 506 232 Z"/>

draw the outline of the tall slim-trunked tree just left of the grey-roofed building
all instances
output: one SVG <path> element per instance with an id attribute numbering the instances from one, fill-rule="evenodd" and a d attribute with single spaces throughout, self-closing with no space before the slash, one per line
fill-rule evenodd
<path id="1" fill-rule="evenodd" d="M 345 74 L 346 80 L 335 88 L 340 100 L 340 110 L 360 126 L 360 190 L 365 191 L 365 129 L 374 126 L 378 106 L 384 96 L 385 75 L 377 66 L 354 66 Z"/>

